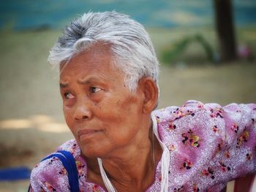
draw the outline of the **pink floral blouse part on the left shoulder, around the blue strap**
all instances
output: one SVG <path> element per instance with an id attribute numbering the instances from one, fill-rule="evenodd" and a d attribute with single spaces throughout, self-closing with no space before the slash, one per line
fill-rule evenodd
<path id="1" fill-rule="evenodd" d="M 80 147 L 75 139 L 65 142 L 56 151 L 58 150 L 66 150 L 72 153 L 78 169 L 79 180 L 85 182 L 86 162 L 80 156 Z M 66 191 L 69 188 L 67 170 L 58 157 L 45 158 L 34 167 L 31 172 L 31 188 L 33 191 Z"/>

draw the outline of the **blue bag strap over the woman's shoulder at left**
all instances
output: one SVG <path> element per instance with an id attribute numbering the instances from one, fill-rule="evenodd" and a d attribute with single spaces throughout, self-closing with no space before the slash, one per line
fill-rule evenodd
<path id="1" fill-rule="evenodd" d="M 45 161 L 48 158 L 57 157 L 63 164 L 64 168 L 67 170 L 67 177 L 69 180 L 69 186 L 71 192 L 79 191 L 79 183 L 78 183 L 78 169 L 75 164 L 75 158 L 73 155 L 67 150 L 59 150 L 56 153 L 48 155 L 46 158 L 42 159 Z M 29 186 L 30 190 L 31 186 Z"/>

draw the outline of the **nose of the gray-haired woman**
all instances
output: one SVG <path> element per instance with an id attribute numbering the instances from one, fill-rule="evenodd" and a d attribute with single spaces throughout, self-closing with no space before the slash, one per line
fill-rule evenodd
<path id="1" fill-rule="evenodd" d="M 91 107 L 90 104 L 86 101 L 81 101 L 76 104 L 75 120 L 89 120 L 91 118 Z"/>

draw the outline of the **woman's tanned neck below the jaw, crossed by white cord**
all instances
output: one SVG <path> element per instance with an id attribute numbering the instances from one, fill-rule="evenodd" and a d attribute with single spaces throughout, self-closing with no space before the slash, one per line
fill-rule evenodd
<path id="1" fill-rule="evenodd" d="M 117 191 L 145 191 L 154 182 L 162 148 L 156 137 L 153 142 L 151 131 L 150 128 L 149 137 L 143 142 L 124 147 L 110 158 L 102 158 L 105 172 Z M 89 166 L 88 180 L 104 186 L 97 158 L 86 158 L 86 161 Z"/>

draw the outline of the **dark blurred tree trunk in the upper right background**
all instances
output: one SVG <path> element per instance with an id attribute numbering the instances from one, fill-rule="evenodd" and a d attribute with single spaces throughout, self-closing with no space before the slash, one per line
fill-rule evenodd
<path id="1" fill-rule="evenodd" d="M 233 61 L 237 53 L 232 0 L 214 0 L 214 10 L 220 61 Z"/>

